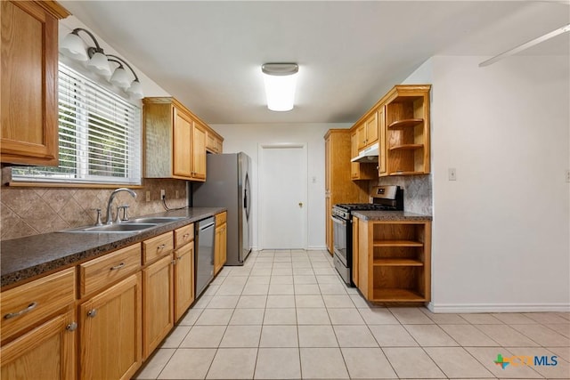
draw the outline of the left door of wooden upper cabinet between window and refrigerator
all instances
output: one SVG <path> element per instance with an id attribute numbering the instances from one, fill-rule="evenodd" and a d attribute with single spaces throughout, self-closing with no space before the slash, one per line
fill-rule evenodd
<path id="1" fill-rule="evenodd" d="M 178 109 L 174 111 L 174 133 L 173 133 L 173 175 L 181 177 L 191 177 L 191 134 L 192 120 L 185 113 Z"/>

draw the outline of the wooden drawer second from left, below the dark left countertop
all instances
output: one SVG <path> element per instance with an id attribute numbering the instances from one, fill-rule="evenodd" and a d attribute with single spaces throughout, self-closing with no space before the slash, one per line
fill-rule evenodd
<path id="1" fill-rule="evenodd" d="M 80 296 L 107 287 L 141 268 L 141 245 L 121 248 L 79 265 Z"/>

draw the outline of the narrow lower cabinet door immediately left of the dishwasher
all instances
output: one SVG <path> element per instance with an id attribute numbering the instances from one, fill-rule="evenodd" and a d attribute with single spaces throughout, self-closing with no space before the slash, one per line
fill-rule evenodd
<path id="1" fill-rule="evenodd" d="M 194 302 L 194 243 L 175 250 L 175 320 Z"/>

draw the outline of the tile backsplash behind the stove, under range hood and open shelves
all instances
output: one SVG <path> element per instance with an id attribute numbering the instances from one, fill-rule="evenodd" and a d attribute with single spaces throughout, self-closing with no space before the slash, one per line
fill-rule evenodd
<path id="1" fill-rule="evenodd" d="M 371 181 L 371 186 L 377 185 L 398 185 L 403 188 L 403 209 L 410 213 L 431 215 L 432 209 L 432 188 L 431 175 L 410 175 L 382 177 L 376 181 Z"/>

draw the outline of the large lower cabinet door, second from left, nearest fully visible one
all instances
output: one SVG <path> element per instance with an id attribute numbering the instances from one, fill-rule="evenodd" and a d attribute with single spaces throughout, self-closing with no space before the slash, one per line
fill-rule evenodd
<path id="1" fill-rule="evenodd" d="M 79 305 L 82 379 L 129 379 L 141 367 L 141 273 Z"/>

